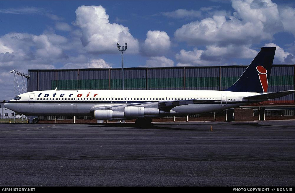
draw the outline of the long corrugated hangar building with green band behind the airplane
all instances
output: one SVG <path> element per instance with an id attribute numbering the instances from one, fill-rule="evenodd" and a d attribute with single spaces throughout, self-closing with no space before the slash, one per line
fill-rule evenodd
<path id="1" fill-rule="evenodd" d="M 225 90 L 234 84 L 247 66 L 206 67 L 141 67 L 124 68 L 125 90 Z M 295 65 L 273 65 L 268 92 L 295 90 Z M 28 92 L 38 90 L 121 90 L 122 69 L 40 69 L 29 70 Z M 255 120 L 295 119 L 294 94 L 243 106 L 254 109 Z M 232 120 L 233 110 L 190 116 L 190 121 Z M 237 112 L 238 113 L 238 112 Z M 53 121 L 53 116 L 39 117 L 40 121 Z M 73 117 L 57 117 L 72 122 Z M 93 117 L 76 117 L 76 122 L 96 122 Z M 164 121 L 171 117 L 159 118 Z M 185 120 L 187 117 L 174 119 Z M 159 121 L 158 120 L 158 121 Z M 157 119 L 153 119 L 157 121 Z"/>

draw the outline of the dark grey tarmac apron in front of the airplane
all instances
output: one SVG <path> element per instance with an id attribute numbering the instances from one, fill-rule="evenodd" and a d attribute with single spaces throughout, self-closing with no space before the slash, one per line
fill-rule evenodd
<path id="1" fill-rule="evenodd" d="M 294 138 L 295 120 L 0 124 L 0 184 L 294 186 Z"/>

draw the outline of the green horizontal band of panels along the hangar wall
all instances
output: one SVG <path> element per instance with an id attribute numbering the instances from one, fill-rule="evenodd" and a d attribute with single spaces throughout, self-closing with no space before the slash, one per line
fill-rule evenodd
<path id="1" fill-rule="evenodd" d="M 221 77 L 221 86 L 230 87 L 239 77 Z M 268 82 L 270 86 L 294 85 L 294 76 L 271 76 Z M 218 87 L 219 77 L 186 77 L 185 87 Z M 52 80 L 51 89 L 77 90 L 77 89 L 109 89 L 108 79 L 97 80 Z M 111 89 L 122 89 L 122 79 L 111 79 Z M 183 87 L 183 78 L 149 78 L 148 88 Z M 145 78 L 124 79 L 125 90 L 146 88 Z"/>

